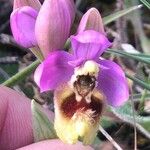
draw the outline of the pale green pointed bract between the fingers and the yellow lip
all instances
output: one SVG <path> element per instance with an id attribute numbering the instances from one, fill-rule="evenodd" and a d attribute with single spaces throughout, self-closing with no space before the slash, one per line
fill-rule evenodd
<path id="1" fill-rule="evenodd" d="M 56 139 L 54 125 L 42 112 L 42 107 L 35 100 L 31 102 L 34 141 Z"/>

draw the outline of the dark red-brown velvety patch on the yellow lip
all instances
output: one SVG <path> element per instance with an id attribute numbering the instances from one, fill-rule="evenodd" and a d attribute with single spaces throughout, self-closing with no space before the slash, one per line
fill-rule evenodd
<path id="1" fill-rule="evenodd" d="M 72 93 L 70 96 L 65 98 L 61 104 L 61 111 L 67 118 L 72 118 L 73 115 L 79 110 L 84 112 L 89 109 L 95 111 L 93 119 L 97 119 L 102 113 L 103 101 L 92 95 L 90 103 L 87 103 L 85 99 L 78 102 L 76 100 L 75 93 Z"/>

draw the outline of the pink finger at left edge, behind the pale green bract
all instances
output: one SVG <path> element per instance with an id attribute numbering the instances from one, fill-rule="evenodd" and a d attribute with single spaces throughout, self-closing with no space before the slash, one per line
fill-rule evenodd
<path id="1" fill-rule="evenodd" d="M 0 150 L 14 150 L 34 142 L 31 100 L 0 86 Z M 53 120 L 51 111 L 43 112 Z"/>

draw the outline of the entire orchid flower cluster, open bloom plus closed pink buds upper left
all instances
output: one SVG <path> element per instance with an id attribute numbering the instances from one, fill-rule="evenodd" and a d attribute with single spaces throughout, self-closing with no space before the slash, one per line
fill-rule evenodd
<path id="1" fill-rule="evenodd" d="M 100 56 L 111 45 L 99 12 L 82 17 L 70 37 L 71 53 L 62 50 L 74 20 L 73 0 L 15 0 L 11 29 L 15 40 L 42 52 L 45 60 L 34 78 L 41 92 L 55 90 L 55 129 L 66 143 L 92 143 L 105 103 L 123 104 L 129 96 L 122 69 Z M 49 52 L 51 52 L 49 54 Z"/>

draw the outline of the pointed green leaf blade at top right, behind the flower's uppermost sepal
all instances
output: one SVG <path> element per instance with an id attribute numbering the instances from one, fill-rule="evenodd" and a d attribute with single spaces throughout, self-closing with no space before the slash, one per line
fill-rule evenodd
<path id="1" fill-rule="evenodd" d="M 133 6 L 133 7 L 115 12 L 115 13 L 109 15 L 109 16 L 104 17 L 103 18 L 103 23 L 104 23 L 104 25 L 109 24 L 109 23 L 115 21 L 116 19 L 118 19 L 118 18 L 120 18 L 120 17 L 122 17 L 122 16 L 136 10 L 136 9 L 139 9 L 141 7 L 142 7 L 142 5 L 137 5 L 137 6 Z"/>

